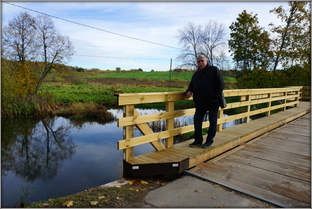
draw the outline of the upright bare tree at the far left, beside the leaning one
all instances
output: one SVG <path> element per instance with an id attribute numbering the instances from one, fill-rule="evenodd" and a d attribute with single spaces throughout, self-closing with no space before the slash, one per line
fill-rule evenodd
<path id="1" fill-rule="evenodd" d="M 35 52 L 35 19 L 27 12 L 14 15 L 1 33 L 4 52 L 12 60 L 22 64 L 34 58 Z"/>

